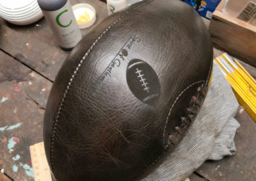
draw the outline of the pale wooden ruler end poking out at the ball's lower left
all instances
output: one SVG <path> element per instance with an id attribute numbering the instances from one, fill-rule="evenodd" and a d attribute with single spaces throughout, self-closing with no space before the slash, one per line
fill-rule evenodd
<path id="1" fill-rule="evenodd" d="M 45 156 L 44 142 L 29 147 L 35 181 L 52 181 L 51 170 Z"/>

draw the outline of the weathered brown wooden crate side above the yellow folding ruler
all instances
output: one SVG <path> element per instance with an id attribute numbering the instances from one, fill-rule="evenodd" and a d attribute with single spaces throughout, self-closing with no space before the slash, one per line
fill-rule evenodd
<path id="1" fill-rule="evenodd" d="M 209 27 L 214 47 L 256 67 L 256 26 L 219 10 Z"/>

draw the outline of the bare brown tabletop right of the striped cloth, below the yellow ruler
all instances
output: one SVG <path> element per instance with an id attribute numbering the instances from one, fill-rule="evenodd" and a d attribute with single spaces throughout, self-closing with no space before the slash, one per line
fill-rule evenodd
<path id="1" fill-rule="evenodd" d="M 220 161 L 206 161 L 196 170 L 208 180 L 256 180 L 256 124 L 241 106 L 236 119 L 241 127 L 235 136 L 235 156 L 225 157 Z"/>

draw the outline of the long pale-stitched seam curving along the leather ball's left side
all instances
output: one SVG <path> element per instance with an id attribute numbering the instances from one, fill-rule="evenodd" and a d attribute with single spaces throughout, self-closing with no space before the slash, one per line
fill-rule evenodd
<path id="1" fill-rule="evenodd" d="M 131 13 L 132 11 L 134 10 L 138 10 L 138 8 L 140 8 L 142 5 L 145 5 L 147 3 L 150 3 L 151 1 L 153 0 L 148 0 L 142 4 L 140 4 L 139 6 L 136 6 L 135 8 L 133 8 L 132 10 L 130 11 L 127 11 L 125 13 L 125 15 L 122 15 L 121 17 L 119 17 L 118 19 L 116 19 L 111 25 L 109 25 L 108 28 L 105 29 L 105 31 L 103 31 L 102 34 L 100 34 L 100 36 L 92 43 L 91 47 L 89 48 L 89 50 L 87 50 L 86 54 L 84 54 L 83 58 L 81 59 L 81 61 L 79 62 L 79 64 L 77 65 L 74 73 L 72 74 L 71 78 L 70 78 L 70 81 L 68 82 L 68 85 L 67 85 L 67 88 L 61 98 L 61 102 L 60 102 L 60 105 L 59 105 L 59 108 L 58 108 L 58 112 L 56 114 L 56 117 L 55 117 L 55 120 L 53 122 L 53 129 L 52 129 L 52 136 L 51 136 L 51 168 L 52 168 L 52 173 L 54 173 L 54 161 L 53 161 L 53 157 L 54 157 L 54 150 L 53 150 L 53 147 L 54 147 L 54 138 L 56 136 L 56 126 L 57 126 L 57 123 L 58 123 L 58 118 L 60 117 L 60 112 L 61 112 L 61 107 L 63 106 L 63 103 L 65 102 L 65 98 L 67 96 L 67 92 L 68 90 L 70 89 L 70 85 L 72 84 L 74 78 L 76 77 L 76 74 L 77 74 L 77 71 L 79 70 L 79 68 L 81 67 L 81 65 L 83 64 L 84 62 L 84 59 L 89 55 L 89 53 L 91 52 L 91 50 L 93 49 L 93 47 L 95 47 L 95 45 L 97 44 L 97 42 L 100 40 L 100 38 L 102 38 L 102 36 L 104 36 L 104 34 L 106 34 L 109 29 L 111 29 L 111 27 L 113 25 L 115 25 L 118 21 L 120 21 L 122 18 L 124 18 L 125 16 L 127 16 L 129 13 Z"/>

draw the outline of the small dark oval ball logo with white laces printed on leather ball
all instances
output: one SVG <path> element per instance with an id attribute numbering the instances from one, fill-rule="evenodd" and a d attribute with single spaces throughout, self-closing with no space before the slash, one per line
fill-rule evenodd
<path id="1" fill-rule="evenodd" d="M 160 95 L 160 83 L 154 69 L 140 59 L 132 59 L 126 70 L 132 94 L 143 103 L 154 104 Z"/>

